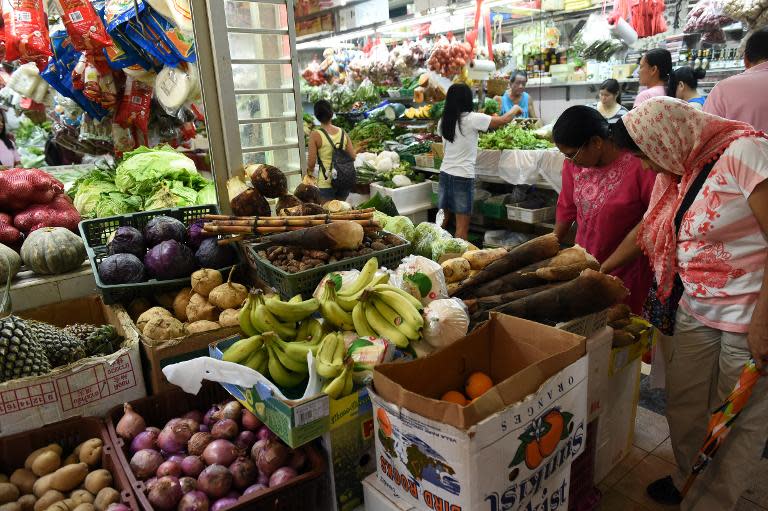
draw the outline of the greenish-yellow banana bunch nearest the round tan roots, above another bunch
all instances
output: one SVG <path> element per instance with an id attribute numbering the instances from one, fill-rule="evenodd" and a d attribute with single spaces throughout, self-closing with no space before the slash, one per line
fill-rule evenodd
<path id="1" fill-rule="evenodd" d="M 277 295 L 265 297 L 261 291 L 251 291 L 240 309 L 240 329 L 249 336 L 275 332 L 281 339 L 294 340 L 298 338 L 301 328 L 301 324 L 297 327 L 297 323 L 304 322 L 318 307 L 314 298 L 302 301 L 297 295 L 284 302 Z M 306 331 L 303 333 L 306 339 Z"/>

